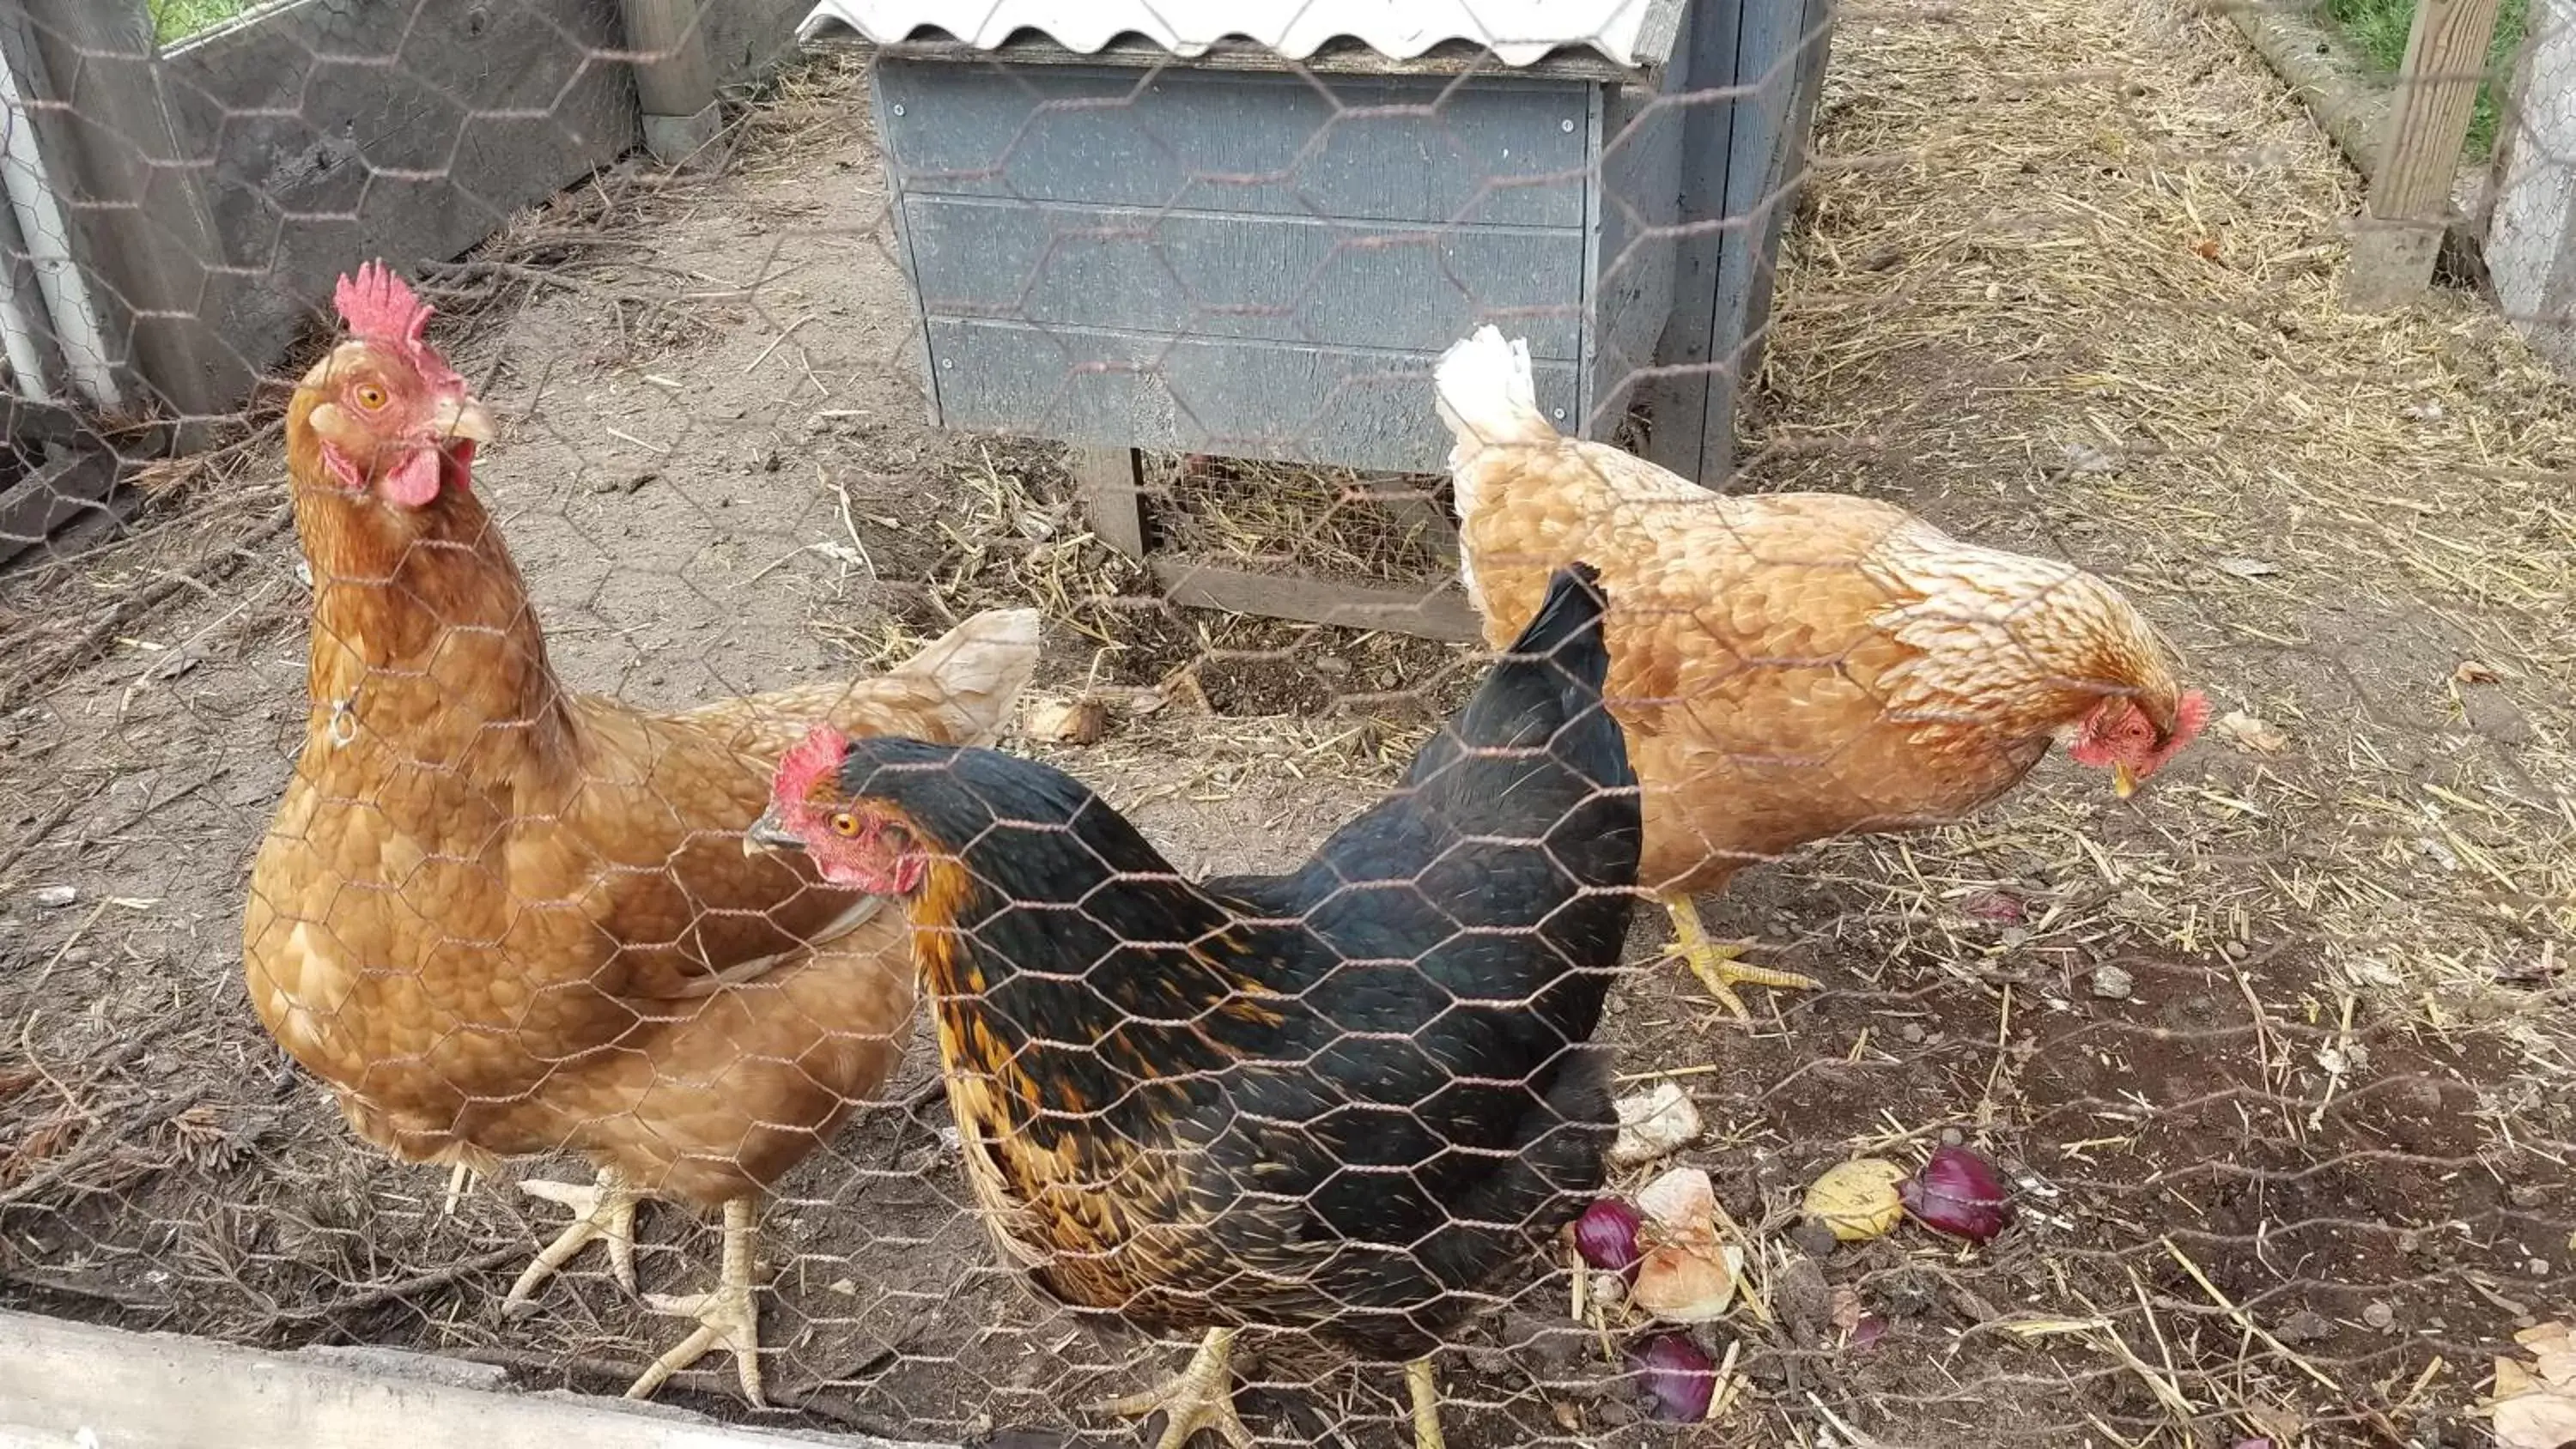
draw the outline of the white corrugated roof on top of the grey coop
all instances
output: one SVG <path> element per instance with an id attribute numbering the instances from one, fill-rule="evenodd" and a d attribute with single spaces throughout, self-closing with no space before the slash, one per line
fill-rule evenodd
<path id="1" fill-rule="evenodd" d="M 1512 67 L 1558 49 L 1654 67 L 1672 51 L 1680 8 L 1682 0 L 822 0 L 796 33 L 814 39 L 848 26 L 876 44 L 894 44 L 938 31 L 976 49 L 999 49 L 1020 31 L 1038 31 L 1077 54 L 1141 36 L 1175 57 L 1247 39 L 1288 59 L 1306 59 L 1340 39 L 1388 59 L 1468 41 Z"/>

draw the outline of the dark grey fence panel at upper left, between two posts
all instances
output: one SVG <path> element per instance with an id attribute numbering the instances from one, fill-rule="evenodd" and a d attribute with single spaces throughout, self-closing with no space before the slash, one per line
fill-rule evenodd
<path id="1" fill-rule="evenodd" d="M 639 142 L 598 0 L 317 0 L 175 49 L 180 142 L 216 175 L 237 268 L 227 337 L 255 368 L 366 257 L 448 260 Z"/>

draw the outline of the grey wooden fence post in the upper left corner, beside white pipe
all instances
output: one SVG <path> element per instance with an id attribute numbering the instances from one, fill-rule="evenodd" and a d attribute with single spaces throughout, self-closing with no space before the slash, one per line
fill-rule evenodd
<path id="1" fill-rule="evenodd" d="M 227 257 L 209 162 L 180 147 L 144 0 L 0 0 L 0 46 L 23 90 L 72 265 L 126 404 L 204 422 L 242 407 L 255 371 L 224 345 Z"/>

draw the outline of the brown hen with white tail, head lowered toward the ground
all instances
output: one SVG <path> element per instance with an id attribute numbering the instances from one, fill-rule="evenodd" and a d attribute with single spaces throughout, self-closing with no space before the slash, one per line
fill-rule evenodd
<path id="1" fill-rule="evenodd" d="M 1440 358 L 1461 574 L 1502 646 L 1551 569 L 1610 595 L 1610 700 L 1646 793 L 1638 883 L 1680 955 L 1734 983 L 1816 986 L 1705 939 L 1695 893 L 1819 839 L 1955 821 L 2063 741 L 2128 795 L 2205 723 L 2164 643 L 2094 574 L 1960 543 L 1844 494 L 1713 494 L 1540 414 L 1525 342 Z"/>

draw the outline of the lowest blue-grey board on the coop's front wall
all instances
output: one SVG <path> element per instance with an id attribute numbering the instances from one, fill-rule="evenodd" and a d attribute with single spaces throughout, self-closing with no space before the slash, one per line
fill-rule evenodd
<path id="1" fill-rule="evenodd" d="M 1110 448 L 1437 474 L 1432 353 L 1350 353 L 930 319 L 940 425 Z M 1538 407 L 1574 407 L 1574 365 L 1538 363 Z"/>

